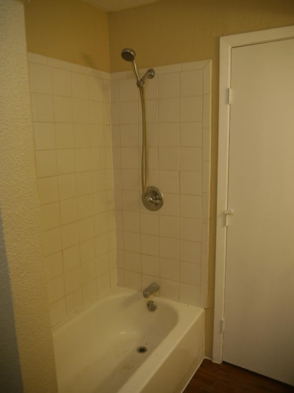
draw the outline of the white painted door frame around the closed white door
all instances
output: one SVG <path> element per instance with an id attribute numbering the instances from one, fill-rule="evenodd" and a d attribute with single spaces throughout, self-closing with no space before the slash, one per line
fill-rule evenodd
<path id="1" fill-rule="evenodd" d="M 215 297 L 212 361 L 223 361 L 227 228 L 224 211 L 228 208 L 229 127 L 232 48 L 294 38 L 294 26 L 220 37 L 219 41 L 219 115 L 217 163 L 217 212 L 215 254 Z"/>

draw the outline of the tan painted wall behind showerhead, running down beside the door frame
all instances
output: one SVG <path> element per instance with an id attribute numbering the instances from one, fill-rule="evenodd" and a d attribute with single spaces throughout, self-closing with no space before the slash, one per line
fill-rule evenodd
<path id="1" fill-rule="evenodd" d="M 133 48 L 139 68 L 212 59 L 211 206 L 206 355 L 212 356 L 217 177 L 219 37 L 294 24 L 293 0 L 162 0 L 108 14 L 111 72 Z"/>

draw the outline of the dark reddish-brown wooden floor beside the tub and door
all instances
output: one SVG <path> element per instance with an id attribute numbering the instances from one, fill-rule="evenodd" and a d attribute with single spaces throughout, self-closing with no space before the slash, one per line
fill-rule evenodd
<path id="1" fill-rule="evenodd" d="M 204 359 L 184 393 L 288 393 L 294 387 L 229 363 Z"/>

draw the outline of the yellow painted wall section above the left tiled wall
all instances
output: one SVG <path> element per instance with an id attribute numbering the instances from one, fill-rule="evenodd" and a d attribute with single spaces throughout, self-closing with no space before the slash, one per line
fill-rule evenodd
<path id="1" fill-rule="evenodd" d="M 28 51 L 109 72 L 107 13 L 82 0 L 30 0 Z"/>

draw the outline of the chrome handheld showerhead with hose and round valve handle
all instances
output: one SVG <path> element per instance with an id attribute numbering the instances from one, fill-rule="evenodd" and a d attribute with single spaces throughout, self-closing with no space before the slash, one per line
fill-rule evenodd
<path id="1" fill-rule="evenodd" d="M 158 191 L 156 191 L 156 195 L 161 195 L 161 202 L 159 203 L 159 197 L 155 198 L 154 193 L 146 197 L 146 192 L 147 189 L 150 187 L 147 187 L 146 189 L 146 173 L 147 173 L 147 154 L 146 154 L 146 111 L 145 111 L 145 96 L 144 96 L 144 83 L 146 81 L 146 78 L 153 78 L 155 75 L 155 71 L 150 68 L 143 76 L 142 78 L 140 77 L 140 73 L 137 67 L 137 64 L 135 62 L 135 57 L 136 53 L 133 49 L 130 48 L 125 48 L 121 51 L 121 57 L 126 60 L 126 61 L 131 61 L 132 63 L 132 68 L 137 80 L 137 87 L 139 88 L 140 91 L 140 98 L 141 98 L 141 107 L 142 107 L 142 155 L 141 155 L 141 183 L 142 183 L 142 202 L 144 206 L 149 209 L 149 210 L 158 210 L 161 208 L 163 204 L 163 197 L 162 193 L 158 188 L 156 188 Z M 144 201 L 146 203 L 144 203 Z"/>

